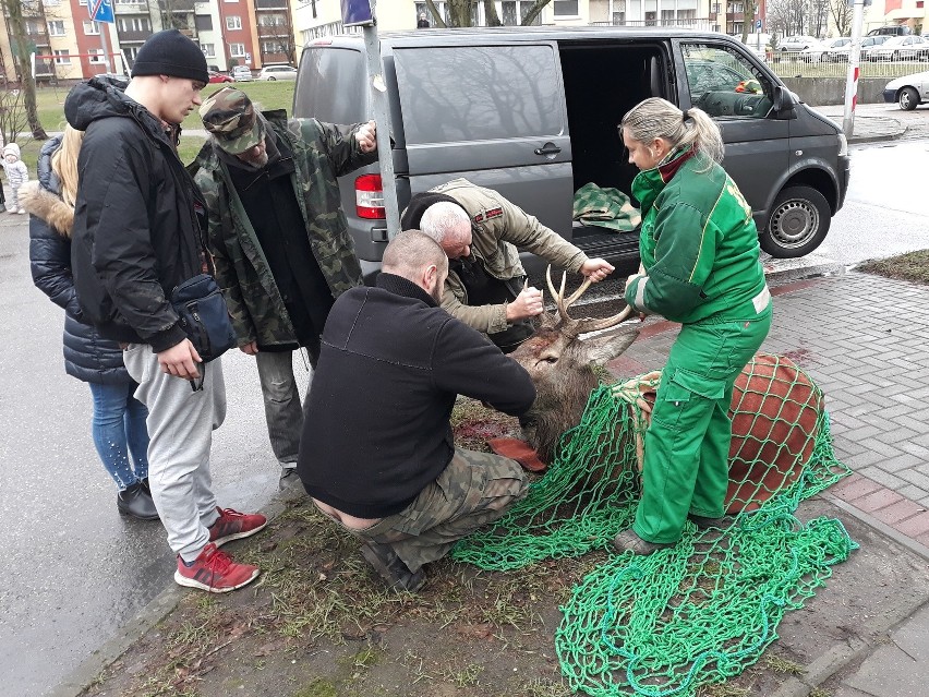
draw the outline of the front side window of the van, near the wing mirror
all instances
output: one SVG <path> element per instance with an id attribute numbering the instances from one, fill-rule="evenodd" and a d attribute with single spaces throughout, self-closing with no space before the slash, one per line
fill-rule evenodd
<path id="1" fill-rule="evenodd" d="M 683 44 L 690 103 L 717 119 L 763 119 L 774 105 L 771 81 L 723 46 Z"/>

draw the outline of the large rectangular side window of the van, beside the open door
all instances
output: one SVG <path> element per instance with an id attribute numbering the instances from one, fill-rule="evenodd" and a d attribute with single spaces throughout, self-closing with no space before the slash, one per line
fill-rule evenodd
<path id="1" fill-rule="evenodd" d="M 394 60 L 408 144 L 565 131 L 551 46 L 395 49 Z"/>

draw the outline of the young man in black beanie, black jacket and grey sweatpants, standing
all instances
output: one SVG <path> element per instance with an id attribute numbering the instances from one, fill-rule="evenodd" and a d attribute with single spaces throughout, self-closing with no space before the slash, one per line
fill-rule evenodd
<path id="1" fill-rule="evenodd" d="M 148 482 L 178 555 L 174 580 L 227 592 L 258 568 L 217 548 L 267 520 L 216 505 L 209 448 L 226 416 L 222 366 L 201 361 L 170 302 L 174 287 L 210 271 L 205 204 L 173 137 L 208 77 L 196 44 L 177 29 L 158 32 L 138 50 L 128 86 L 81 83 L 64 115 L 85 132 L 71 244 L 81 310 L 123 346 L 135 397 L 148 407 Z"/>

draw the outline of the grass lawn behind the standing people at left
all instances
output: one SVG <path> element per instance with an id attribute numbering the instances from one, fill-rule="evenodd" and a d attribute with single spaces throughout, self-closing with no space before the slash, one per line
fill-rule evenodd
<path id="1" fill-rule="evenodd" d="M 263 109 L 287 109 L 290 113 L 293 106 L 293 87 L 292 81 L 275 81 L 275 82 L 239 82 L 207 85 L 203 91 L 203 97 L 206 98 L 214 92 L 217 92 L 224 86 L 234 86 L 252 99 L 261 105 Z M 48 133 L 58 133 L 64 130 L 64 98 L 68 96 L 70 87 L 40 87 L 36 91 L 36 101 L 38 104 L 39 121 Z M 194 110 L 184 122 L 181 124 L 184 130 L 202 130 L 203 122 L 200 120 L 200 115 Z M 35 177 L 36 161 L 38 160 L 41 142 L 33 140 L 28 133 L 20 133 L 16 139 L 20 148 L 23 153 L 23 161 L 29 168 L 29 176 Z M 197 135 L 188 135 L 181 137 L 180 155 L 181 159 L 188 164 L 196 156 L 203 145 L 203 137 Z"/>

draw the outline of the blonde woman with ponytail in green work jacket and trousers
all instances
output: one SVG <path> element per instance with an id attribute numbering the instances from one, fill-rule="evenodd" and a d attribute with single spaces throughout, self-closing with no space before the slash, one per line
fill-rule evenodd
<path id="1" fill-rule="evenodd" d="M 620 124 L 629 163 L 641 171 L 639 273 L 626 302 L 679 322 L 644 438 L 642 497 L 619 552 L 651 554 L 724 515 L 736 376 L 771 327 L 771 293 L 751 208 L 719 165 L 719 127 L 700 109 L 650 98 Z"/>

